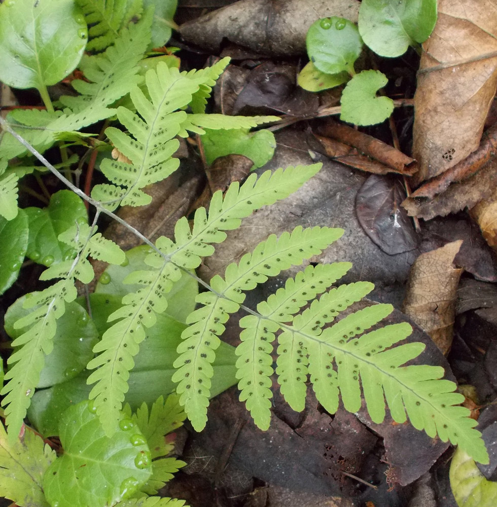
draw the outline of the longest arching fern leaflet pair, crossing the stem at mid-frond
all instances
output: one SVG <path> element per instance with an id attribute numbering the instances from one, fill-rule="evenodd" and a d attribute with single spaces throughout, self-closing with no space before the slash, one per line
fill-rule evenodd
<path id="1" fill-rule="evenodd" d="M 90 399 L 99 414 L 105 431 L 112 433 L 115 421 L 127 391 L 129 370 L 133 368 L 133 356 L 139 350 L 139 343 L 145 338 L 145 328 L 155 324 L 156 313 L 165 311 L 165 294 L 174 281 L 181 276 L 180 268 L 195 269 L 201 257 L 212 255 L 214 247 L 209 243 L 221 243 L 226 239 L 224 230 L 239 227 L 241 219 L 255 209 L 269 205 L 289 196 L 300 188 L 321 167 L 321 164 L 289 167 L 274 173 L 264 172 L 259 179 L 251 174 L 240 187 L 230 185 L 224 198 L 221 192 L 212 197 L 209 213 L 205 208 L 197 209 L 193 229 L 186 218 L 179 220 L 175 227 L 175 242 L 160 237 L 156 245 L 162 255 L 151 253 L 146 263 L 150 271 L 131 273 L 128 283 L 144 285 L 136 293 L 123 298 L 123 307 L 114 312 L 109 320 L 119 320 L 109 328 L 93 351 L 99 353 L 88 364 L 89 369 L 97 368 L 88 378 L 95 385 Z"/>

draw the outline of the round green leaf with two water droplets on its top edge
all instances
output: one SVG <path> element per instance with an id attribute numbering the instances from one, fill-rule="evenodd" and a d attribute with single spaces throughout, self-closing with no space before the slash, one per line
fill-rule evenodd
<path id="1" fill-rule="evenodd" d="M 318 70 L 326 74 L 345 71 L 351 76 L 354 74 L 354 62 L 363 47 L 357 26 L 336 16 L 312 23 L 306 44 L 309 60 Z"/>

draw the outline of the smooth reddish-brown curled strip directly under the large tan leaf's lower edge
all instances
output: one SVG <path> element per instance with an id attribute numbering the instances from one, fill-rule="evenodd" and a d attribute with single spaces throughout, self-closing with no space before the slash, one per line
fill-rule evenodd
<path id="1" fill-rule="evenodd" d="M 497 155 L 497 125 L 493 125 L 483 134 L 478 150 L 419 187 L 411 197 L 434 197 L 447 190 L 451 183 L 460 182 L 477 173 L 495 155 Z"/>

